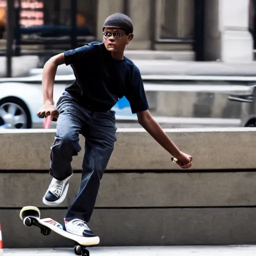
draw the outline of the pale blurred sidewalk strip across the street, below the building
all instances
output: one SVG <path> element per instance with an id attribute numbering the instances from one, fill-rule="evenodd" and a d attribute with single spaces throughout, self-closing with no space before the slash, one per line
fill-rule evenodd
<path id="1" fill-rule="evenodd" d="M 149 52 L 148 54 L 155 53 Z M 256 76 L 256 61 L 250 63 L 223 63 L 221 61 L 198 62 L 169 59 L 139 59 L 137 57 L 131 58 L 131 60 L 138 66 L 142 75 L 165 74 Z M 38 61 L 39 58 L 36 55 L 13 57 L 13 77 L 26 76 L 31 68 L 36 68 Z M 0 77 L 5 77 L 5 68 L 6 58 L 0 56 Z M 38 70 L 40 71 L 40 69 Z M 70 66 L 61 65 L 58 67 L 57 73 L 70 74 L 72 73 L 72 69 Z"/>

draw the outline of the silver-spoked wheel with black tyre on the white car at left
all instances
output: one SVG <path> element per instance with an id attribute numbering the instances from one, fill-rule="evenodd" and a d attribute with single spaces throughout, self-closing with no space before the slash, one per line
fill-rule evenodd
<path id="1" fill-rule="evenodd" d="M 21 99 L 7 97 L 0 100 L 0 128 L 31 128 L 29 110 Z"/>

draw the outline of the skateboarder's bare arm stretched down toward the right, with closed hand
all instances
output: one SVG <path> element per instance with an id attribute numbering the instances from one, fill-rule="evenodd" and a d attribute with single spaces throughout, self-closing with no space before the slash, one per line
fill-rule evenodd
<path id="1" fill-rule="evenodd" d="M 155 121 L 148 110 L 138 111 L 139 124 L 170 154 L 172 154 L 181 164 L 183 168 L 191 166 L 191 157 L 181 152 L 178 147 L 171 141 L 168 135 L 163 131 L 161 126 Z"/>

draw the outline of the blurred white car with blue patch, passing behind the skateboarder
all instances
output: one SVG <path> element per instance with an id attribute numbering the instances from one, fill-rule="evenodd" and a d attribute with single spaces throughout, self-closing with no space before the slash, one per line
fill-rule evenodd
<path id="1" fill-rule="evenodd" d="M 53 86 L 55 103 L 74 78 L 72 73 L 61 74 L 61 68 L 59 69 Z M 32 75 L 27 77 L 0 78 L 0 128 L 43 127 L 43 119 L 37 116 L 43 102 L 41 79 L 41 69 L 34 69 Z M 126 116 L 133 115 L 125 97 L 112 110 Z"/>

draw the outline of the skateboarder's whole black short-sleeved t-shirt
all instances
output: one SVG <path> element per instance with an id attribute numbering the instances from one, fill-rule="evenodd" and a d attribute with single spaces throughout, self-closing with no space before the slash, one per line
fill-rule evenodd
<path id="1" fill-rule="evenodd" d="M 115 60 L 104 43 L 88 44 L 64 52 L 75 80 L 65 90 L 80 105 L 107 111 L 125 96 L 132 113 L 148 109 L 138 67 L 127 57 Z"/>

